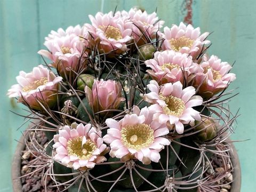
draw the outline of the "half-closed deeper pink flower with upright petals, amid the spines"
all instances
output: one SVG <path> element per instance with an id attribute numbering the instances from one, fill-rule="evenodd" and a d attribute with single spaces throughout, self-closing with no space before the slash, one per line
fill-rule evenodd
<path id="1" fill-rule="evenodd" d="M 118 109 L 125 99 L 122 97 L 122 87 L 113 80 L 94 80 L 92 89 L 85 86 L 85 94 L 94 113 L 108 109 Z"/>

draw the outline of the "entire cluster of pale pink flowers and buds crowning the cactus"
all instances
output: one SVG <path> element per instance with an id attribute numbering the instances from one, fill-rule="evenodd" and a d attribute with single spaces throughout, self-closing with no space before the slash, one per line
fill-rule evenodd
<path id="1" fill-rule="evenodd" d="M 236 76 L 205 53 L 209 33 L 182 22 L 161 31 L 164 21 L 139 9 L 89 18 L 51 31 L 47 50 L 38 51 L 51 63 L 20 71 L 7 93 L 46 124 L 54 121 L 55 161 L 79 171 L 113 159 L 154 165 L 173 138 L 201 129 L 197 139 L 215 137 L 218 127 L 203 111 Z"/>

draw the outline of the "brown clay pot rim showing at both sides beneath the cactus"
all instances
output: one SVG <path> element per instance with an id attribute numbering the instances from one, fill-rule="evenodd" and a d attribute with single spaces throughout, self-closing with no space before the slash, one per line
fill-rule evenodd
<path id="1" fill-rule="evenodd" d="M 28 134 L 27 134 L 28 136 Z M 25 136 L 26 137 L 26 136 Z M 13 155 L 12 160 L 12 186 L 13 186 L 13 192 L 22 192 L 22 185 L 21 185 L 21 179 L 17 179 L 21 176 L 21 156 L 22 156 L 22 150 L 26 148 L 25 146 L 25 137 L 22 135 L 20 138 L 17 148 L 15 150 L 15 153 Z M 237 151 L 233 145 L 233 143 L 230 143 L 231 146 L 231 154 L 233 153 L 233 157 L 231 158 L 231 162 L 234 166 L 233 171 L 233 179 L 234 181 L 231 183 L 231 189 L 230 192 L 240 192 L 241 190 L 241 167 L 239 163 L 239 158 Z"/>

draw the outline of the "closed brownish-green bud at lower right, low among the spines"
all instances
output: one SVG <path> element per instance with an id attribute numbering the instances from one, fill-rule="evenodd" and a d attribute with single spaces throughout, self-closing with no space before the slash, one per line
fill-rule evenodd
<path id="1" fill-rule="evenodd" d="M 213 119 L 203 118 L 202 121 L 196 121 L 195 131 L 202 130 L 196 134 L 199 141 L 207 141 L 213 139 L 218 131 L 217 122 Z"/>

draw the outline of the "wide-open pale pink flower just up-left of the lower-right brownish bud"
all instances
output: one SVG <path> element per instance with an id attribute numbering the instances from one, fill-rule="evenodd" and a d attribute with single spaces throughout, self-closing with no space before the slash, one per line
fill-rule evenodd
<path id="1" fill-rule="evenodd" d="M 175 130 L 181 134 L 184 131 L 183 124 L 193 126 L 195 120 L 201 120 L 199 112 L 192 107 L 202 105 L 203 99 L 195 95 L 193 86 L 182 90 L 182 84 L 175 82 L 159 87 L 157 82 L 152 80 L 147 87 L 151 92 L 145 94 L 144 98 L 154 104 L 149 109 L 155 112 L 154 119 L 159 123 L 175 125 Z"/>

